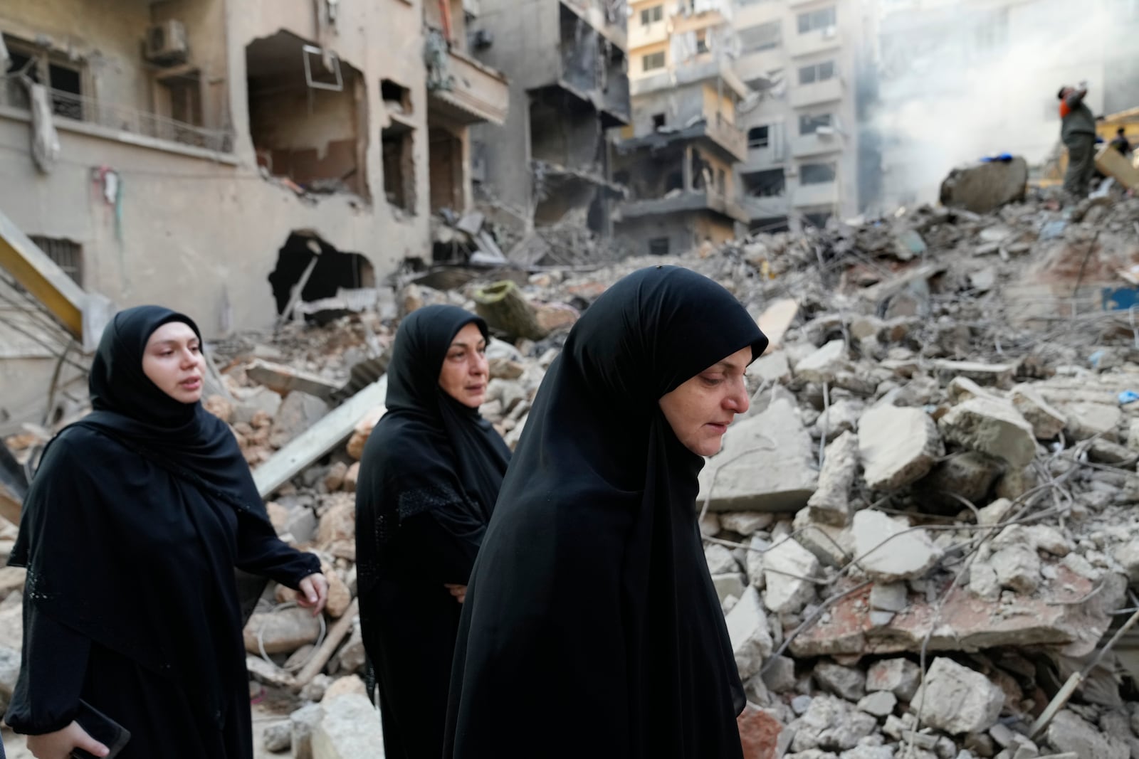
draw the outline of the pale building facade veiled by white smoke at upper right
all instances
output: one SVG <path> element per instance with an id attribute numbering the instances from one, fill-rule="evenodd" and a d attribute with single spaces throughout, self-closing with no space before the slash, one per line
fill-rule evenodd
<path id="1" fill-rule="evenodd" d="M 1092 112 L 1139 106 L 1139 2 L 892 0 L 880 24 L 876 209 L 934 203 L 950 168 L 984 155 L 1040 165 L 1059 140 L 1062 84 Z"/>

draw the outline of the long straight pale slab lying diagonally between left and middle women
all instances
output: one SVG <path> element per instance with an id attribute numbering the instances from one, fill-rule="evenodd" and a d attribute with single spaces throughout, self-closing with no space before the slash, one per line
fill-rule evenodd
<path id="1" fill-rule="evenodd" d="M 273 396 L 277 394 L 267 390 Z M 343 444 L 369 411 L 383 407 L 387 397 L 387 376 L 357 393 L 323 419 L 289 440 L 269 461 L 253 470 L 253 480 L 262 497 L 287 482 L 317 459 Z"/>

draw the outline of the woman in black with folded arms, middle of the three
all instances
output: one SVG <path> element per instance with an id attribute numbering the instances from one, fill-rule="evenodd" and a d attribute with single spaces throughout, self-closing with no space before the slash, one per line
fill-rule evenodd
<path id="1" fill-rule="evenodd" d="M 486 323 L 427 306 L 400 324 L 387 413 L 360 462 L 357 561 L 364 649 L 388 759 L 439 759 L 467 577 L 510 452 L 478 415 Z"/>

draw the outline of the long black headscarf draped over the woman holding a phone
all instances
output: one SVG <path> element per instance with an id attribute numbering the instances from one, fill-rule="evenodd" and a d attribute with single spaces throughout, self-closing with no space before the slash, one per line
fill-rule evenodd
<path id="1" fill-rule="evenodd" d="M 245 673 L 233 567 L 259 556 L 240 536 L 272 528 L 228 426 L 142 371 L 147 341 L 170 322 L 200 339 L 192 320 L 159 306 L 122 311 L 105 329 L 89 381 L 96 411 L 44 451 L 9 563 L 28 568 L 25 603 L 178 677 L 212 718 L 226 711 L 227 678 Z"/>

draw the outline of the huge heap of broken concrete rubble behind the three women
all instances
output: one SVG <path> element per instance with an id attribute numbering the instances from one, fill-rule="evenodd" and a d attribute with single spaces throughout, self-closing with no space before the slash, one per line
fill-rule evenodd
<path id="1" fill-rule="evenodd" d="M 391 282 L 400 314 L 474 311 L 476 289 L 510 279 L 535 313 L 558 316 L 540 340 L 487 350 L 482 412 L 510 445 L 573 319 L 625 273 L 688 266 L 769 330 L 751 410 L 694 504 L 708 510 L 705 556 L 752 702 L 748 757 L 1139 757 L 1131 635 L 1032 734 L 1139 607 L 1139 403 L 1126 399 L 1139 348 L 1128 312 L 1089 287 L 1139 259 L 1139 198 L 1077 218 L 1049 196 L 1011 200 L 1015 165 L 981 168 L 1002 174 L 990 188 L 1000 198 L 958 175 L 942 207 L 699 255 Z M 206 407 L 256 477 L 372 387 L 396 327 L 363 311 L 233 336 L 210 346 L 220 381 Z M 278 533 L 321 558 L 335 591 L 319 646 L 317 622 L 281 608 L 288 594 L 272 585 L 245 630 L 254 686 L 292 699 L 264 743 L 302 759 L 378 745 L 360 694 L 352 502 L 382 401 L 267 493 Z M 31 455 L 47 434 L 7 443 Z M 14 538 L 0 522 L 0 553 Z M 0 700 L 18 667 L 23 583 L 0 570 Z"/>

